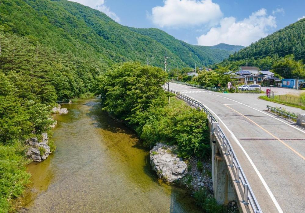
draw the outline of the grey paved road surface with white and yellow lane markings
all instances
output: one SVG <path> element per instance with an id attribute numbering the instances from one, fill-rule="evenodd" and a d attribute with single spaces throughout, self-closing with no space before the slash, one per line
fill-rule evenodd
<path id="1" fill-rule="evenodd" d="M 305 212 L 305 129 L 265 112 L 270 102 L 258 100 L 257 94 L 174 83 L 170 89 L 203 102 L 217 115 L 264 212 Z"/>

